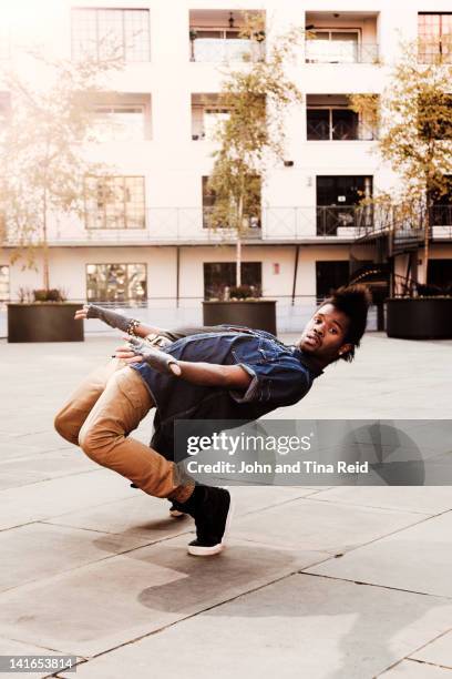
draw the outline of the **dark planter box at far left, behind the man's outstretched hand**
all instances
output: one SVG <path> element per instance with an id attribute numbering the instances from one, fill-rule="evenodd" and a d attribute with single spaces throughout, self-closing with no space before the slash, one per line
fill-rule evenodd
<path id="1" fill-rule="evenodd" d="M 68 302 L 8 304 L 8 342 L 83 342 L 83 322 L 74 321 L 81 306 Z"/>

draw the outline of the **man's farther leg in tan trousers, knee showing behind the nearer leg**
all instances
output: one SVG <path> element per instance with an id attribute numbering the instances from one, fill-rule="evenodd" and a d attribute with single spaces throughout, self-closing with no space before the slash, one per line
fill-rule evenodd
<path id="1" fill-rule="evenodd" d="M 123 361 L 114 358 L 88 375 L 55 416 L 54 427 L 60 436 L 75 446 L 79 445 L 79 433 L 83 423 L 104 391 L 109 378 L 124 365 Z"/>

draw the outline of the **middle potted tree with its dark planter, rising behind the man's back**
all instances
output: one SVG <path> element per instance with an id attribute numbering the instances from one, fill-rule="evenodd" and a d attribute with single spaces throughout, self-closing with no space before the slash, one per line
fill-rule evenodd
<path id="1" fill-rule="evenodd" d="M 243 29 L 250 40 L 261 42 L 264 27 L 256 19 Z M 274 38 L 259 60 L 226 75 L 222 105 L 229 111 L 217 125 L 217 148 L 207 189 L 214 200 L 208 226 L 235 241 L 236 288 L 242 291 L 243 240 L 260 226 L 261 184 L 275 163 L 282 163 L 286 109 L 301 101 L 301 93 L 287 75 L 286 67 L 302 32 L 298 29 Z M 253 50 L 250 51 L 253 53 Z M 249 60 L 248 60 L 249 61 Z M 259 296 L 204 302 L 204 323 L 233 323 L 276 332 L 276 302 Z"/>

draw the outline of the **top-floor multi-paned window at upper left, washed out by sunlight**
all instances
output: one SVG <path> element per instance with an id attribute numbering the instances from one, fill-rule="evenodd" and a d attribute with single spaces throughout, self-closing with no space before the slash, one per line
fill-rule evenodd
<path id="1" fill-rule="evenodd" d="M 150 12 L 145 9 L 73 9 L 72 58 L 102 60 L 112 51 L 125 61 L 150 61 Z"/>

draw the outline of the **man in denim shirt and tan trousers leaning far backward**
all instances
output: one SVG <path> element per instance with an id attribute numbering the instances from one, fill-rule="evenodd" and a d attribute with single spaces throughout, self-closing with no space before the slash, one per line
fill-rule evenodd
<path id="1" fill-rule="evenodd" d="M 245 327 L 161 331 L 110 310 L 84 306 L 76 318 L 101 318 L 131 338 L 116 349 L 115 361 L 76 389 L 56 415 L 55 428 L 97 464 L 189 514 L 196 526 L 189 554 L 218 554 L 230 520 L 230 495 L 224 488 L 195 485 L 173 462 L 174 422 L 255 420 L 297 403 L 325 367 L 339 358 L 353 359 L 369 302 L 364 286 L 337 290 L 295 346 Z M 129 434 L 153 407 L 155 430 L 148 447 Z"/>

